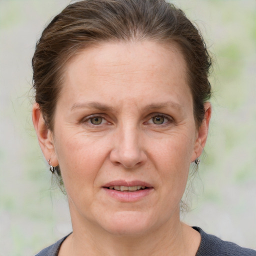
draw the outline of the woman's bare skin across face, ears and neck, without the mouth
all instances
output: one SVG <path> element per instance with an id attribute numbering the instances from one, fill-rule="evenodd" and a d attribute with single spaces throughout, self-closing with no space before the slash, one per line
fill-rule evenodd
<path id="1" fill-rule="evenodd" d="M 102 43 L 67 64 L 53 132 L 34 104 L 39 144 L 60 166 L 70 208 L 73 233 L 59 255 L 195 255 L 200 235 L 180 222 L 179 202 L 211 106 L 196 128 L 185 71 L 175 45 Z M 124 202 L 103 188 L 113 180 L 151 189 Z"/>

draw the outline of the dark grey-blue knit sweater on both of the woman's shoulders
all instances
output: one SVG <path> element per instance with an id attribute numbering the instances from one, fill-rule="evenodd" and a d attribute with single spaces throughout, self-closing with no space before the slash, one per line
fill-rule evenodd
<path id="1" fill-rule="evenodd" d="M 201 234 L 201 242 L 195 256 L 256 256 L 256 250 L 242 248 L 233 242 L 223 241 L 207 234 L 201 228 L 194 226 Z M 61 243 L 67 236 L 41 250 L 35 256 L 57 256 Z"/>

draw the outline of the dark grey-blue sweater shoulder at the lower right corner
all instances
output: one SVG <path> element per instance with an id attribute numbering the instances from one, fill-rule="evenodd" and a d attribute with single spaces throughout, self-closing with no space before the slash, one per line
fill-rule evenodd
<path id="1" fill-rule="evenodd" d="M 223 241 L 214 235 L 205 233 L 199 227 L 193 228 L 201 234 L 201 242 L 195 256 L 256 256 L 255 250 Z"/>

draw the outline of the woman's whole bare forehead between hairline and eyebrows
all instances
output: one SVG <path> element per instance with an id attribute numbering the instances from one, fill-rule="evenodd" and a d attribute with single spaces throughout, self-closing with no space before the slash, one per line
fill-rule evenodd
<path id="1" fill-rule="evenodd" d="M 76 97 L 76 100 L 95 97 L 95 93 L 98 97 L 105 96 L 103 100 L 164 96 L 168 101 L 170 94 L 178 100 L 191 98 L 186 63 L 174 44 L 102 43 L 73 57 L 66 65 L 63 78 L 62 94 Z"/>

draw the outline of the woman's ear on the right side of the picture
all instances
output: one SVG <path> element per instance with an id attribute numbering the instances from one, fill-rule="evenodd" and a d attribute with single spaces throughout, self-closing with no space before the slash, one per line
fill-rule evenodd
<path id="1" fill-rule="evenodd" d="M 202 123 L 197 131 L 197 136 L 194 144 L 194 150 L 191 157 L 191 162 L 193 162 L 197 157 L 199 157 L 202 153 L 203 147 L 206 143 L 208 129 L 209 129 L 209 121 L 211 116 L 211 104 L 210 102 L 204 103 L 204 118 Z"/>

